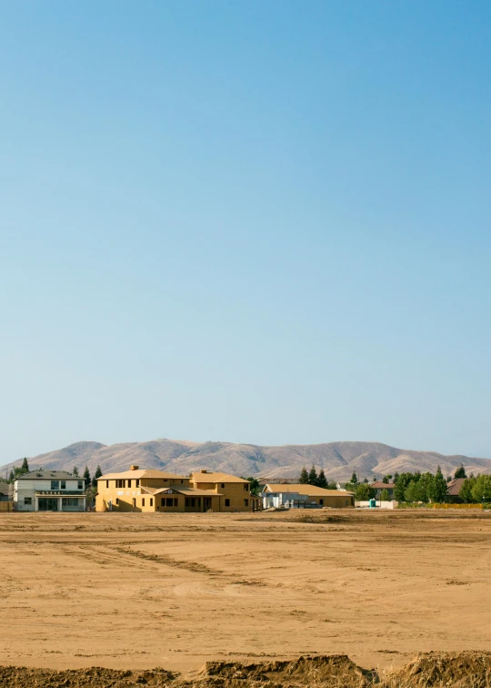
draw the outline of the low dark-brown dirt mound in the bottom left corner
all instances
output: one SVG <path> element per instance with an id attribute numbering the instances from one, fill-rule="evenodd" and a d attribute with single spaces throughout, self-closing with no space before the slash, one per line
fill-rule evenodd
<path id="1" fill-rule="evenodd" d="M 133 685 L 165 688 L 173 683 L 175 677 L 175 673 L 165 669 L 125 672 L 91 667 L 53 672 L 24 666 L 0 666 L 0 688 L 126 688 Z"/>

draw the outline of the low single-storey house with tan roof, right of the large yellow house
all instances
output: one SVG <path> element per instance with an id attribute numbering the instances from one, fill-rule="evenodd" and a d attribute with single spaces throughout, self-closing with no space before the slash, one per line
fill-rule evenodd
<path id="1" fill-rule="evenodd" d="M 355 506 L 353 492 L 325 490 L 304 483 L 267 483 L 262 492 L 263 509 L 285 507 L 286 509 L 319 509 L 331 507 L 344 509 Z"/>

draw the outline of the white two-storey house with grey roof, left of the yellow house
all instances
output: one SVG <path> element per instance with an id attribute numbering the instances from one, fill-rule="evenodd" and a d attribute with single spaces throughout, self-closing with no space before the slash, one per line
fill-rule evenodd
<path id="1" fill-rule="evenodd" d="M 14 484 L 15 511 L 85 511 L 85 481 L 66 470 L 32 470 Z"/>

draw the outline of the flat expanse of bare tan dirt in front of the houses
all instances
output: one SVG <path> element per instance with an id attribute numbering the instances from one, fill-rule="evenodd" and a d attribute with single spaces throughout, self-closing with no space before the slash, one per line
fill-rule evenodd
<path id="1" fill-rule="evenodd" d="M 397 667 L 491 651 L 491 514 L 0 514 L 0 593 L 0 664 Z"/>

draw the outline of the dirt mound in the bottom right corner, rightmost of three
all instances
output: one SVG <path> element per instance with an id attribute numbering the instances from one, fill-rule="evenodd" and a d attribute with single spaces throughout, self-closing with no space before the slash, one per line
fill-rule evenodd
<path id="1" fill-rule="evenodd" d="M 387 688 L 489 688 L 491 653 L 422 653 L 391 673 Z"/>

